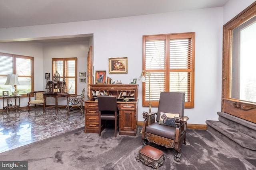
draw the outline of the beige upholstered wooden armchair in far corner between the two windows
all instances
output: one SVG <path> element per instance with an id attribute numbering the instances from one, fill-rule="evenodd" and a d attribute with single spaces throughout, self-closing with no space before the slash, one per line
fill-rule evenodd
<path id="1" fill-rule="evenodd" d="M 28 95 L 28 111 L 30 111 L 30 105 L 33 104 L 35 105 L 42 105 L 44 104 L 44 91 L 36 91 L 36 92 L 30 92 L 27 93 Z M 32 100 L 32 97 L 35 97 L 34 100 Z"/>

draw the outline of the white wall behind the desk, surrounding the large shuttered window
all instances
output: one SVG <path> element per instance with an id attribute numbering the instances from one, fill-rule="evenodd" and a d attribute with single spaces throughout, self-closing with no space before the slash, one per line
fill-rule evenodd
<path id="1" fill-rule="evenodd" d="M 217 111 L 221 110 L 222 25 L 223 8 L 220 7 L 0 29 L 0 42 L 93 33 L 94 72 L 108 72 L 108 58 L 128 57 L 128 74 L 107 74 L 113 80 L 127 84 L 138 78 L 142 70 L 142 35 L 196 32 L 195 107 L 185 109 L 185 115 L 189 117 L 188 123 L 205 124 L 206 120 L 217 120 Z M 1 52 L 2 49 L 0 46 Z M 139 121 L 143 121 L 142 112 L 148 111 L 147 107 L 142 107 L 141 100 L 142 86 L 139 84 Z"/>

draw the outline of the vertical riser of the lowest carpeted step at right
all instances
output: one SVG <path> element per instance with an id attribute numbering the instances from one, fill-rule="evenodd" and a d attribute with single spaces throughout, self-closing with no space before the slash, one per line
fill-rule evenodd
<path id="1" fill-rule="evenodd" d="M 213 127 L 208 125 L 208 131 L 210 131 L 212 134 L 214 134 L 216 137 L 218 137 L 221 141 L 229 145 L 232 149 L 236 150 L 236 152 L 248 157 L 248 158 L 256 158 L 256 152 L 254 150 L 246 149 L 220 133 L 219 131 L 216 131 Z"/>

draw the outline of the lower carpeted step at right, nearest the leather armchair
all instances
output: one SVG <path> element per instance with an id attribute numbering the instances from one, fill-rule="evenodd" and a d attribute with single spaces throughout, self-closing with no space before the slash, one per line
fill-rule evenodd
<path id="1" fill-rule="evenodd" d="M 208 130 L 239 153 L 256 158 L 256 139 L 220 122 L 207 120 Z"/>

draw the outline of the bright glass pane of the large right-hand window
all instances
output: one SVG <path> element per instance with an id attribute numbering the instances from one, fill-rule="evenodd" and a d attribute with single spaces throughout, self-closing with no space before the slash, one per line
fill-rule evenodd
<path id="1" fill-rule="evenodd" d="M 256 16 L 233 29 L 231 98 L 256 102 Z"/>

